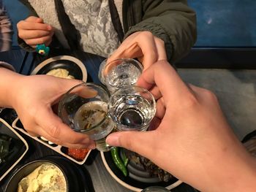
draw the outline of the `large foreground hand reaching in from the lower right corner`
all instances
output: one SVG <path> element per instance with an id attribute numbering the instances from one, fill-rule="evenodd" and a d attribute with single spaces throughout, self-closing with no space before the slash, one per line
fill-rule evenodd
<path id="1" fill-rule="evenodd" d="M 106 139 L 109 145 L 151 159 L 200 191 L 255 190 L 255 160 L 233 134 L 213 93 L 186 85 L 165 61 L 143 72 L 138 85 L 158 99 L 154 130 L 116 132 Z"/>

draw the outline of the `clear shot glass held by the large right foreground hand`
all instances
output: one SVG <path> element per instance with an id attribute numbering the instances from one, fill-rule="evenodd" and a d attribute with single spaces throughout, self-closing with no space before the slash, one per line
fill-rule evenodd
<path id="1" fill-rule="evenodd" d="M 156 102 L 145 88 L 128 85 L 110 96 L 108 111 L 117 131 L 146 131 L 154 118 Z"/>

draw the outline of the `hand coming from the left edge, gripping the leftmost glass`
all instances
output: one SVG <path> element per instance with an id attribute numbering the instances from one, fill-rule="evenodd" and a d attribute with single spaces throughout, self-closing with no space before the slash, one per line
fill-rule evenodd
<path id="1" fill-rule="evenodd" d="M 86 134 L 72 131 L 53 112 L 52 106 L 80 80 L 66 80 L 49 75 L 19 76 L 9 96 L 26 131 L 32 136 L 42 136 L 49 141 L 71 148 L 94 148 L 94 141 Z M 88 90 L 83 96 L 94 96 Z"/>

